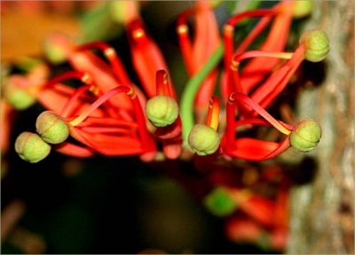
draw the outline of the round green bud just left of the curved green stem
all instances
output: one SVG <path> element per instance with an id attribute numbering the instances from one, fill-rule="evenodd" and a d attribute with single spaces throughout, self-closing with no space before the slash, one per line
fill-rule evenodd
<path id="1" fill-rule="evenodd" d="M 155 127 L 166 127 L 174 123 L 178 116 L 178 105 L 174 98 L 156 96 L 146 102 L 146 117 Z"/>

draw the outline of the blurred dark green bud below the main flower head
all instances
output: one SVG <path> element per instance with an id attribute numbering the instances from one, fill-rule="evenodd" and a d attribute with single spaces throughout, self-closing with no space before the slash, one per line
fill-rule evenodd
<path id="1" fill-rule="evenodd" d="M 230 215 L 237 208 L 237 204 L 223 187 L 213 189 L 204 199 L 204 205 L 211 213 L 219 217 Z"/>

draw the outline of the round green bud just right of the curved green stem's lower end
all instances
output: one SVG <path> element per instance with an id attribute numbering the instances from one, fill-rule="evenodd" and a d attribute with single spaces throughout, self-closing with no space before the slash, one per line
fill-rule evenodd
<path id="1" fill-rule="evenodd" d="M 219 148 L 220 138 L 217 131 L 209 126 L 197 124 L 188 136 L 191 150 L 197 155 L 213 154 Z"/>

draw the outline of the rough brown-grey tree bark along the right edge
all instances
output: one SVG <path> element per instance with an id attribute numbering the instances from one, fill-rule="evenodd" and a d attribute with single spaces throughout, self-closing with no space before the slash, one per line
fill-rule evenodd
<path id="1" fill-rule="evenodd" d="M 288 253 L 354 253 L 354 11 L 351 0 L 315 1 L 304 27 L 325 30 L 331 51 L 324 80 L 297 103 L 298 116 L 319 120 L 323 135 L 312 154 L 317 169 L 303 169 L 315 171 L 312 182 L 292 190 Z"/>

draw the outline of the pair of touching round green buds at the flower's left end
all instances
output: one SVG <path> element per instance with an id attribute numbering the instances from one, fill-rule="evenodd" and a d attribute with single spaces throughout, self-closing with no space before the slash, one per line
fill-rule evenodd
<path id="1" fill-rule="evenodd" d="M 15 142 L 15 151 L 29 163 L 37 163 L 46 158 L 51 152 L 49 143 L 63 143 L 70 130 L 67 123 L 56 113 L 45 111 L 36 120 L 36 132 L 39 135 L 23 132 Z"/>

